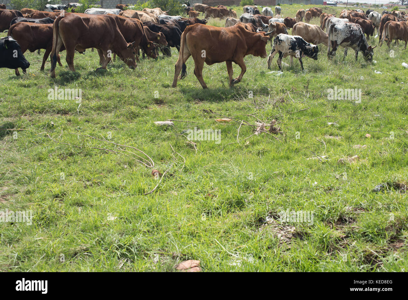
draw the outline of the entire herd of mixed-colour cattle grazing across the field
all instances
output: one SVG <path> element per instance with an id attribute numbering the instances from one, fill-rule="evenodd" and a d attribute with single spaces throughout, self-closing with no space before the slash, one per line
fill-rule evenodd
<path id="1" fill-rule="evenodd" d="M 277 64 L 282 70 L 282 59 L 290 56 L 299 59 L 302 70 L 303 57 L 317 60 L 318 44 L 328 47 L 328 58 L 335 56 L 338 46 L 363 53 L 367 62 L 373 60 L 373 49 L 367 40 L 375 30 L 379 43 L 386 41 L 388 47 L 392 40 L 398 43 L 408 41 L 408 15 L 404 11 L 383 11 L 382 14 L 368 10 L 364 13 L 357 10 L 342 10 L 339 18 L 336 15 L 323 13 L 322 9 L 313 7 L 299 9 L 295 18 L 283 18 L 282 9 L 275 7 L 275 15 L 270 7 L 246 5 L 244 13 L 237 19 L 237 13 L 223 5 L 209 7 L 205 4 L 183 4 L 184 14 L 171 16 L 167 11 L 156 7 L 142 11 L 131 9 L 126 4 L 118 4 L 116 9 L 91 8 L 85 13 L 67 13 L 74 10 L 79 3 L 67 5 L 47 4 L 44 11 L 32 9 L 8 10 L 0 8 L 0 32 L 8 30 L 8 36 L 0 39 L 0 68 L 13 68 L 20 75 L 29 67 L 24 57 L 27 49 L 31 52 L 45 49 L 41 70 L 51 55 L 51 77 L 55 77 L 55 67 L 60 62 L 60 51 L 66 51 L 69 69 L 75 71 L 73 58 L 75 51 L 84 53 L 86 49 L 96 48 L 102 68 L 118 55 L 129 68 L 137 66 L 140 50 L 142 55 L 157 58 L 160 50 L 163 55 L 171 56 L 169 47 L 179 51 L 175 64 L 173 87 L 178 76 L 186 76 L 186 60 L 192 56 L 195 62 L 194 74 L 203 88 L 207 88 L 202 69 L 204 63 L 211 65 L 226 62 L 229 85 L 241 81 L 246 72 L 244 57 L 254 55 L 267 58 L 268 68 L 273 57 L 278 54 Z M 0 7 L 2 7 L 0 5 Z M 199 19 L 199 15 L 205 19 Z M 208 26 L 208 18 L 226 19 L 225 27 Z M 308 24 L 312 18 L 320 18 L 320 26 Z M 305 22 L 302 22 L 303 19 Z M 288 35 L 292 29 L 292 35 Z M 324 31 L 326 30 L 326 31 Z M 375 38 L 377 37 L 375 36 Z M 275 39 L 273 40 L 273 37 Z M 271 41 L 273 47 L 269 56 L 266 44 Z M 273 40 L 273 41 L 272 41 Z M 233 79 L 232 62 L 238 64 L 241 73 Z"/>

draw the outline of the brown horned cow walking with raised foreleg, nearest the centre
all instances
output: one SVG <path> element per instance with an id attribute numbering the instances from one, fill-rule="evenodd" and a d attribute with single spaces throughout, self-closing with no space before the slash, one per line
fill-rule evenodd
<path id="1" fill-rule="evenodd" d="M 181 51 L 175 64 L 172 87 L 177 86 L 177 77 L 180 71 L 182 72 L 180 79 L 186 77 L 186 60 L 190 56 L 193 56 L 195 64 L 194 75 L 202 88 L 207 88 L 202 77 L 204 62 L 208 65 L 226 62 L 229 86 L 237 84 L 246 72 L 244 62 L 246 55 L 266 57 L 265 46 L 269 40 L 269 34 L 248 31 L 243 24 L 235 24 L 227 28 L 202 24 L 188 26 L 182 35 Z M 202 55 L 203 50 L 205 55 Z M 232 62 L 241 67 L 241 74 L 235 79 L 233 79 Z"/>

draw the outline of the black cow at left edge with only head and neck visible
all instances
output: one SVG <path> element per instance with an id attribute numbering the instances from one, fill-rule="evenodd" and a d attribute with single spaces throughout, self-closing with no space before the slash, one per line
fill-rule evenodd
<path id="1" fill-rule="evenodd" d="M 17 53 L 17 55 L 16 55 Z M 29 68 L 30 63 L 21 52 L 20 45 L 11 36 L 0 39 L 0 68 Z"/>

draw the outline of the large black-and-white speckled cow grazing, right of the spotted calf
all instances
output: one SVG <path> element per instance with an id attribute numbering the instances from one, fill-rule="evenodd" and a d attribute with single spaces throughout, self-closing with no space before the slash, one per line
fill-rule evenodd
<path id="1" fill-rule="evenodd" d="M 373 49 L 377 46 L 374 46 L 373 48 L 368 46 L 363 29 L 359 24 L 351 22 L 336 22 L 330 24 L 327 32 L 329 40 L 327 57 L 329 59 L 332 59 L 336 55 L 337 47 L 342 46 L 345 48 L 343 60 L 347 56 L 348 48 L 352 48 L 355 51 L 356 60 L 359 51 L 361 51 L 366 61 L 373 61 Z"/>

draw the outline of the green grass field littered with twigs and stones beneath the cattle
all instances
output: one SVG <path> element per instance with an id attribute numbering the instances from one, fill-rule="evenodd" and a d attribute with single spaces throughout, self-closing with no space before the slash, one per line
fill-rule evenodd
<path id="1" fill-rule="evenodd" d="M 300 7 L 282 5 L 282 15 Z M 194 259 L 203 271 L 406 271 L 403 44 L 392 44 L 395 55 L 375 48 L 372 64 L 361 53 L 355 62 L 354 51 L 342 62 L 341 48 L 329 62 L 320 44 L 305 72 L 295 60 L 282 75 L 268 74 L 277 56 L 272 70 L 247 56 L 232 89 L 225 64 L 205 65 L 208 90 L 191 58 L 171 88 L 174 48 L 133 71 L 117 60 L 95 72 L 97 52 L 87 50 L 75 54 L 72 73 L 62 52 L 55 80 L 49 61 L 40 71 L 44 50 L 27 52 L 27 75 L 0 70 L 0 214 L 31 210 L 33 218 L 0 223 L 0 270 L 174 271 Z M 81 89 L 82 103 L 49 99 L 54 86 Z M 335 87 L 361 89 L 361 103 L 328 100 Z M 215 121 L 222 117 L 234 121 Z M 180 121 L 153 123 L 168 119 Z M 273 119 L 279 134 L 248 126 Z M 195 141 L 195 149 L 185 131 L 194 127 L 220 130 L 220 143 Z M 142 150 L 154 167 L 107 141 Z M 354 155 L 357 163 L 337 162 Z M 144 195 L 159 182 L 152 169 L 168 171 Z M 386 190 L 372 192 L 379 183 Z M 280 220 L 282 211 L 313 213 L 313 222 Z"/>

